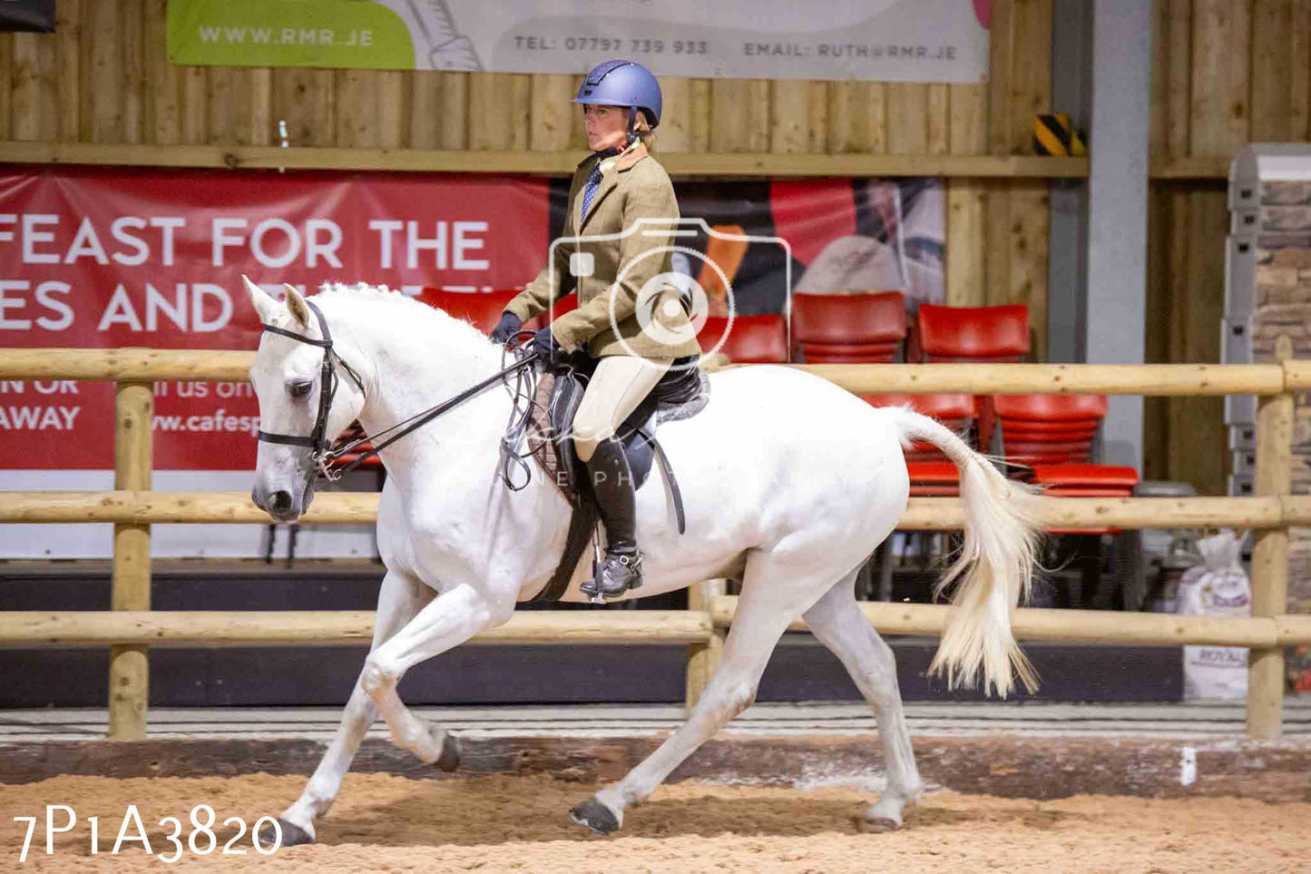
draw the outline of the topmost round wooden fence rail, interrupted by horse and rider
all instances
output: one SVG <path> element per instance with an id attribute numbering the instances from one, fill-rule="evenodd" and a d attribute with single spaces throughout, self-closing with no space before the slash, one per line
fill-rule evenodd
<path id="1" fill-rule="evenodd" d="M 253 352 L 0 349 L 0 379 L 245 379 Z M 1307 362 L 1311 364 L 1311 362 Z M 746 365 L 739 365 L 746 366 Z M 784 365 L 863 392 L 1276 395 L 1311 388 L 1311 367 L 1280 365 Z"/>

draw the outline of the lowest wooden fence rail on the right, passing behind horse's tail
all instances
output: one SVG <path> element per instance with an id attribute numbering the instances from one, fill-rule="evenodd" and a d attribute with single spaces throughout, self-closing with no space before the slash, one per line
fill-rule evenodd
<path id="1" fill-rule="evenodd" d="M 954 608 L 944 604 L 861 602 L 865 618 L 886 634 L 940 635 Z M 733 622 L 737 597 L 711 600 L 716 626 Z M 1311 643 L 1311 615 L 1213 617 L 1118 610 L 1046 610 L 1021 608 L 1011 614 L 1020 640 L 1082 640 L 1137 646 L 1222 646 L 1273 648 Z M 806 630 L 801 619 L 788 626 Z"/>

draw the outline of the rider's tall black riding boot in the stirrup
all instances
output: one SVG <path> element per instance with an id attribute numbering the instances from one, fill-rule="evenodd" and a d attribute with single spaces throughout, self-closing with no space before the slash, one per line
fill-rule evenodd
<path id="1" fill-rule="evenodd" d="M 608 437 L 597 445 L 587 462 L 597 510 L 606 525 L 606 560 L 597 568 L 595 579 L 582 584 L 585 594 L 617 598 L 642 584 L 642 554 L 637 549 L 636 495 L 633 474 L 628 467 L 624 445 Z"/>

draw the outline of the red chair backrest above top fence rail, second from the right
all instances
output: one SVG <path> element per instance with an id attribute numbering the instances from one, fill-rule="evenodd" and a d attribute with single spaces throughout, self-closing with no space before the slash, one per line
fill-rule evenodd
<path id="1" fill-rule="evenodd" d="M 889 364 L 906 341 L 901 291 L 793 294 L 792 360 L 805 364 Z"/>

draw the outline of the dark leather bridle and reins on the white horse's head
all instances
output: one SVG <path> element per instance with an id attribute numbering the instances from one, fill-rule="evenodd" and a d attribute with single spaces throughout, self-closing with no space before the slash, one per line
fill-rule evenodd
<path id="1" fill-rule="evenodd" d="M 311 459 L 311 462 L 313 462 L 313 467 L 311 468 L 311 472 L 309 472 L 311 478 L 313 478 L 313 471 L 317 470 L 320 474 L 323 474 L 329 480 L 341 479 L 343 475 L 346 475 L 350 471 L 355 470 L 355 467 L 358 467 L 364 459 L 367 459 L 367 458 L 370 458 L 372 455 L 376 455 L 383 449 L 385 449 L 387 446 L 391 446 L 392 444 L 395 444 L 401 437 L 405 437 L 406 434 L 417 430 L 418 428 L 422 428 L 423 425 L 426 425 L 427 423 L 433 421 L 434 419 L 437 419 L 438 416 L 440 416 L 446 411 L 452 409 L 452 408 L 460 406 L 461 403 L 464 403 L 469 398 L 475 396 L 476 394 L 479 394 L 480 391 L 482 391 L 488 386 L 492 386 L 492 385 L 494 385 L 497 382 L 502 382 L 502 381 L 505 381 L 506 377 L 509 377 L 509 375 L 511 375 L 511 374 L 514 374 L 517 371 L 523 371 L 524 369 L 530 367 L 538 360 L 538 353 L 536 352 L 528 352 L 527 354 L 523 354 L 522 357 L 519 357 L 518 361 L 515 361 L 509 367 L 505 367 L 503 370 L 501 370 L 501 371 L 498 371 L 498 373 L 488 377 L 486 379 L 484 379 L 482 382 L 477 383 L 476 386 L 473 386 L 471 388 L 465 388 L 464 391 L 461 391 L 460 394 L 455 395 L 454 398 L 443 400 L 442 403 L 437 404 L 435 407 L 429 407 L 423 412 L 416 413 L 416 415 L 410 416 L 409 419 L 406 419 L 404 421 L 399 421 L 395 425 L 392 425 L 391 428 L 387 428 L 387 429 L 379 432 L 378 434 L 364 436 L 364 437 L 361 437 L 359 440 L 354 440 L 354 441 L 351 441 L 351 442 L 349 442 L 345 446 L 341 446 L 338 449 L 330 449 L 333 441 L 328 437 L 328 433 L 326 433 L 328 432 L 328 413 L 332 411 L 332 402 L 333 402 L 333 398 L 337 396 L 337 386 L 340 383 L 340 381 L 337 378 L 337 370 L 333 366 L 333 362 L 337 362 L 337 364 L 341 365 L 342 370 L 346 371 L 346 375 L 350 377 L 351 382 L 354 382 L 359 387 L 359 392 L 362 395 L 364 395 L 367 398 L 367 392 L 364 391 L 364 383 L 359 378 L 359 375 L 351 369 L 351 366 L 349 364 L 346 364 L 346 361 L 340 354 L 337 354 L 333 350 L 333 348 L 332 348 L 332 333 L 328 331 L 328 320 L 324 319 L 324 314 L 319 310 L 319 307 L 313 303 L 313 301 L 305 301 L 305 306 L 308 306 L 309 310 L 311 310 L 311 312 L 315 314 L 315 318 L 319 319 L 319 331 L 324 336 L 323 340 L 315 340 L 313 337 L 307 337 L 303 333 L 296 333 L 294 331 L 287 331 L 284 328 L 274 328 L 273 325 L 269 325 L 269 324 L 264 325 L 264 329 L 269 331 L 271 333 L 281 335 L 283 337 L 291 337 L 292 340 L 296 340 L 298 343 L 304 343 L 304 344 L 308 344 L 311 346 L 319 346 L 320 349 L 324 350 L 324 361 L 323 361 L 323 366 L 320 367 L 320 378 L 319 378 L 319 386 L 320 386 L 320 390 L 319 390 L 319 416 L 315 419 L 313 430 L 309 432 L 308 437 L 300 437 L 300 436 L 296 436 L 296 434 L 275 434 L 275 433 L 271 433 L 271 432 L 267 432 L 267 430 L 260 430 L 258 432 L 258 440 L 261 440 L 261 441 L 264 441 L 266 444 L 283 444 L 283 445 L 287 445 L 287 446 L 307 446 L 309 449 L 309 459 Z M 531 396 L 531 392 L 530 392 L 530 396 Z M 355 449 L 358 446 L 361 446 L 362 444 L 366 444 L 366 442 L 368 442 L 371 440 L 375 440 L 378 437 L 382 437 L 383 434 L 387 434 L 387 433 L 397 430 L 397 429 L 400 429 L 399 433 L 392 434 L 391 437 L 388 437 L 387 440 L 384 440 L 380 444 L 374 444 L 370 449 L 366 449 L 364 451 L 359 453 L 354 459 L 351 459 L 351 462 L 349 465 L 345 465 L 343 467 L 337 467 L 337 468 L 330 467 L 330 465 L 333 462 L 336 462 L 342 455 L 346 455 L 349 453 L 355 451 Z M 505 442 L 502 442 L 502 450 L 503 449 L 505 449 Z"/>

